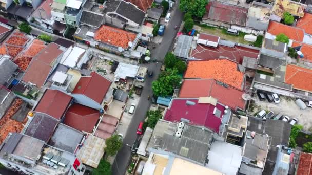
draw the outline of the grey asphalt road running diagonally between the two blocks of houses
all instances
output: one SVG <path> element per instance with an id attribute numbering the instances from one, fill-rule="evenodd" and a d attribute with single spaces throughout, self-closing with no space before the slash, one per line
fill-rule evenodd
<path id="1" fill-rule="evenodd" d="M 178 3 L 178 1 L 176 1 L 176 3 Z M 127 134 L 124 137 L 123 147 L 116 155 L 115 161 L 112 165 L 113 175 L 124 175 L 127 170 L 127 166 L 131 157 L 131 148 L 126 144 L 132 145 L 135 139 L 138 137 L 138 135 L 136 135 L 136 129 L 138 128 L 139 123 L 144 120 L 145 114 L 151 103 L 151 100 L 147 100 L 147 96 L 150 95 L 152 97 L 152 81 L 157 79 L 160 73 L 163 59 L 166 53 L 172 48 L 172 42 L 178 32 L 177 29 L 174 29 L 174 25 L 179 27 L 182 23 L 183 13 L 177 8 L 178 5 L 179 4 L 175 4 L 175 10 L 171 11 L 171 19 L 166 27 L 161 44 L 157 45 L 155 49 L 151 50 L 151 57 L 156 58 L 159 62 L 150 63 L 148 66 L 148 70 L 153 71 L 153 77 L 147 78 L 145 81 L 145 86 L 143 88 L 140 101 L 136 105 L 136 110 L 129 124 Z"/>

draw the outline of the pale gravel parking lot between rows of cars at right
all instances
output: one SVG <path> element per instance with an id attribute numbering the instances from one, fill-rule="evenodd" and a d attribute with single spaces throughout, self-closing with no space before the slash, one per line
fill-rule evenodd
<path id="1" fill-rule="evenodd" d="M 274 102 L 269 103 L 267 100 L 260 101 L 258 96 L 253 96 L 256 101 L 251 102 L 249 108 L 249 114 L 256 116 L 261 110 L 273 111 L 275 114 L 281 113 L 288 116 L 290 119 L 297 118 L 298 123 L 303 125 L 304 129 L 312 127 L 312 108 L 307 107 L 305 110 L 301 110 L 295 103 L 296 99 L 290 97 L 284 97 L 279 95 L 280 103 L 275 104 Z"/>

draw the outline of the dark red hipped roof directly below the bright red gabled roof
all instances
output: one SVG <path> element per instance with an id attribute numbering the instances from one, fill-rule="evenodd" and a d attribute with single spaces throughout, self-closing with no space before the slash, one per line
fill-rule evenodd
<path id="1" fill-rule="evenodd" d="M 99 118 L 99 111 L 78 103 L 74 103 L 68 108 L 68 111 L 65 114 L 64 123 L 77 130 L 92 133 L 92 130 Z"/>

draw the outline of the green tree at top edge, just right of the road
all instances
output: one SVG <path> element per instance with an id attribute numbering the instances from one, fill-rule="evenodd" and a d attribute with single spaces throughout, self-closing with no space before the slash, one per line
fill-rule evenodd
<path id="1" fill-rule="evenodd" d="M 179 8 L 183 12 L 189 12 L 192 16 L 201 18 L 206 13 L 207 0 L 181 0 Z"/>

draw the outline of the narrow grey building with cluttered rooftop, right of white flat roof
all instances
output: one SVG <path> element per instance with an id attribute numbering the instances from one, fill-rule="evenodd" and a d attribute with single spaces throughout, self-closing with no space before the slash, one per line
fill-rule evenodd
<path id="1" fill-rule="evenodd" d="M 262 174 L 265 167 L 271 138 L 247 130 L 243 146 L 240 174 Z"/>

